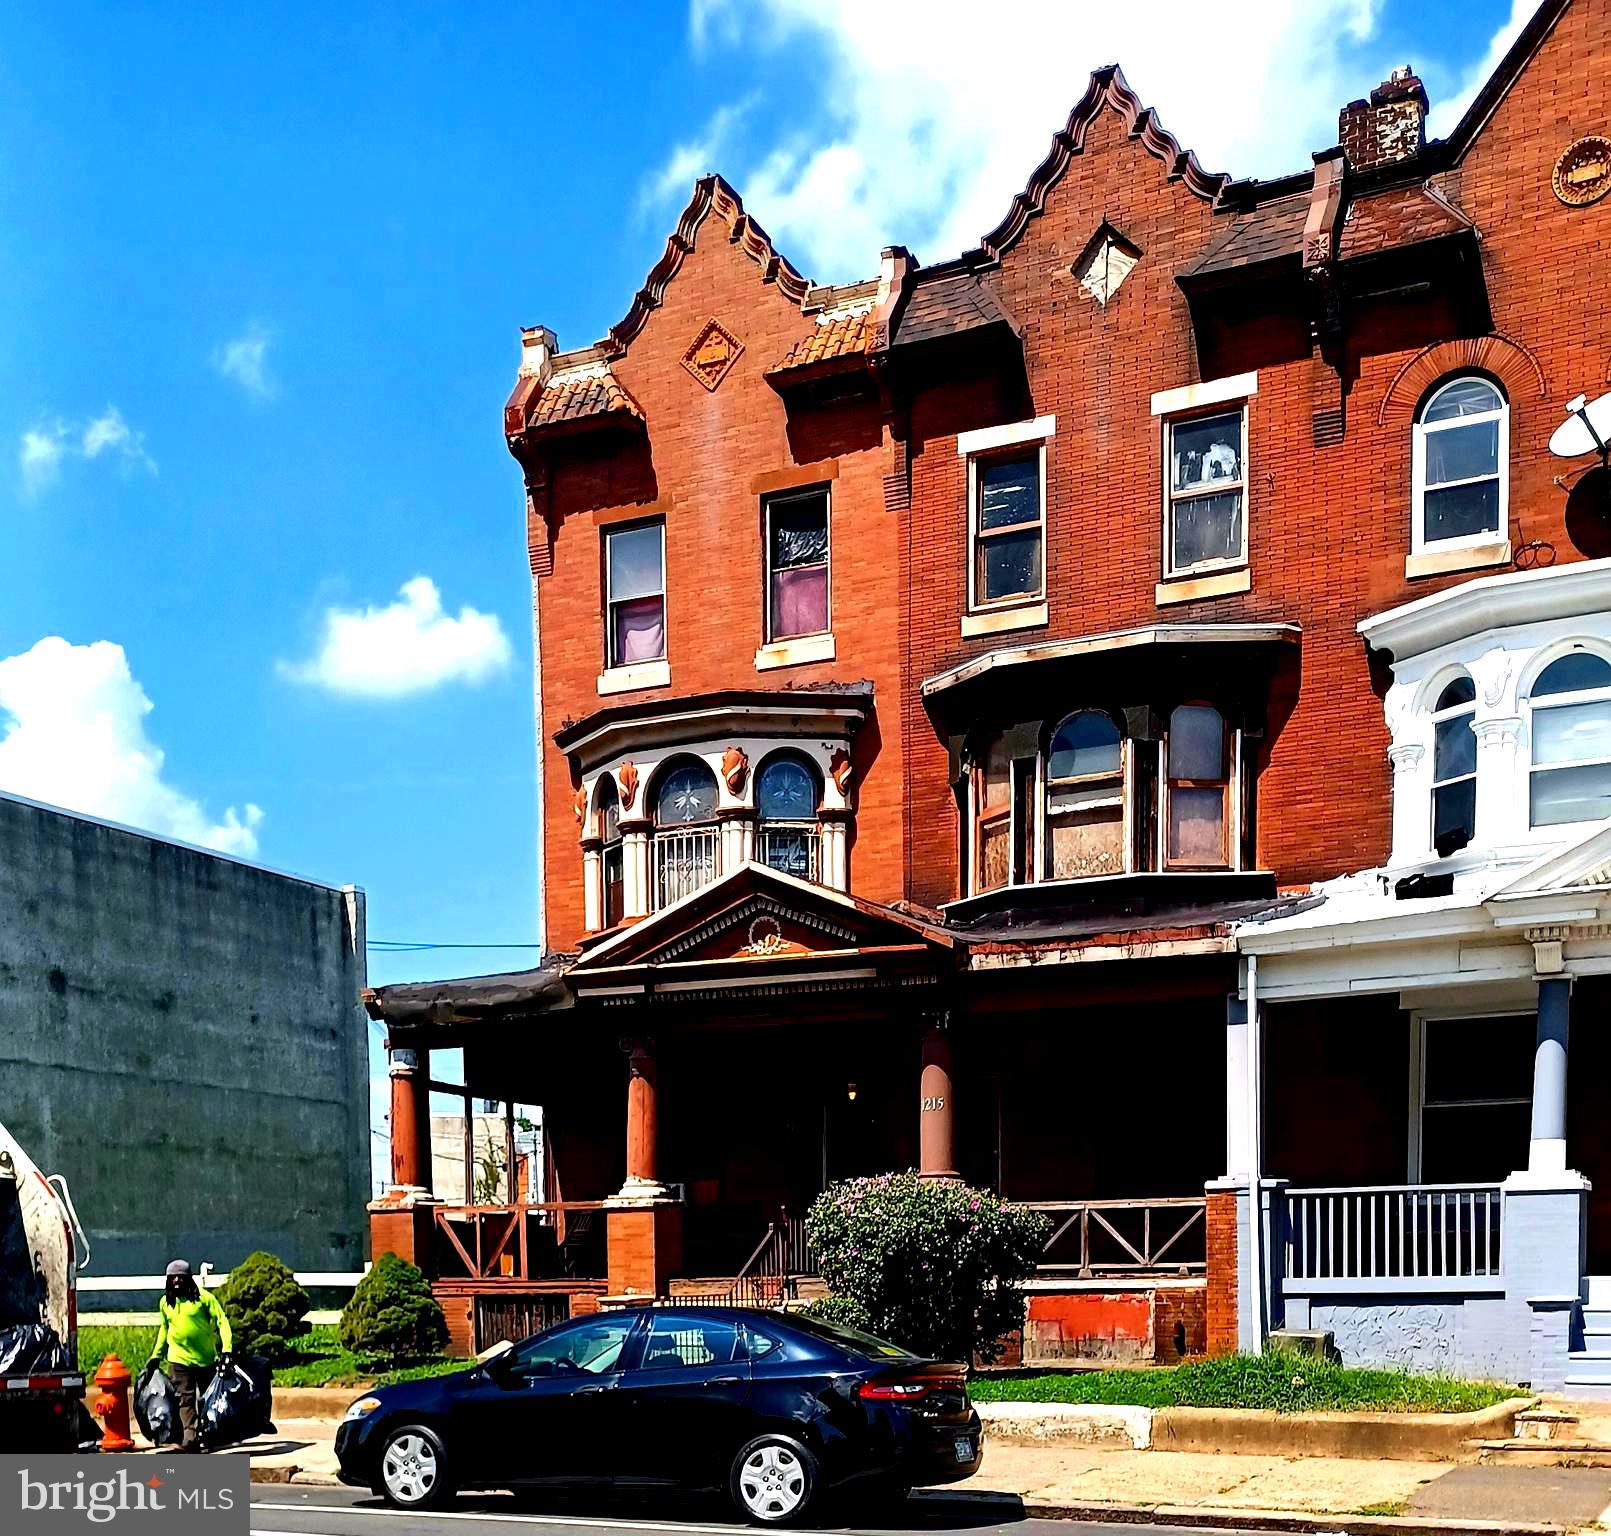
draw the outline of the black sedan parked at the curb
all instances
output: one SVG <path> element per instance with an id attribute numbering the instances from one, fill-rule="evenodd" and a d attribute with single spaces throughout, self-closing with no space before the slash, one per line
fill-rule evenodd
<path id="1" fill-rule="evenodd" d="M 880 1496 L 979 1467 L 962 1365 L 785 1312 L 572 1318 L 475 1370 L 383 1386 L 335 1436 L 342 1481 L 400 1509 L 458 1489 L 725 1489 L 760 1525 L 834 1488 Z"/>

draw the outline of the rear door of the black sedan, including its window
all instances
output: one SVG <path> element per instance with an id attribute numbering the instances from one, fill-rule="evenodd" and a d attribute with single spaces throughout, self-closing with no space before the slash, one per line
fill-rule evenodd
<path id="1" fill-rule="evenodd" d="M 749 1359 L 741 1314 L 656 1309 L 640 1362 L 619 1388 L 625 1478 L 720 1486 L 749 1434 Z"/>

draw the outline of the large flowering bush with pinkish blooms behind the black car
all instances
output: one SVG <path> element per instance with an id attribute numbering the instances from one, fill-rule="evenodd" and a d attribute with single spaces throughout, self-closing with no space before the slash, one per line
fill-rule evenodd
<path id="1" fill-rule="evenodd" d="M 833 1304 L 860 1309 L 855 1326 L 962 1362 L 1000 1359 L 1002 1336 L 1023 1326 L 1021 1283 L 1049 1230 L 988 1189 L 917 1173 L 833 1185 L 806 1217 Z"/>

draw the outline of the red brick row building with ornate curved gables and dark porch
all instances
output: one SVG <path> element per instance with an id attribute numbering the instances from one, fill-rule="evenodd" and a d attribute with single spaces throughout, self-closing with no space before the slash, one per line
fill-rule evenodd
<path id="1" fill-rule="evenodd" d="M 549 1209 L 377 1210 L 466 1336 L 786 1291 L 825 1181 L 917 1165 L 1060 1212 L 1031 1351 L 1234 1339 L 1205 1185 L 1371 1164 L 1326 1102 L 1236 1162 L 1234 1088 L 1232 927 L 1402 851 L 1360 625 L 1611 554 L 1548 451 L 1611 372 L 1608 61 L 1548 0 L 1450 139 L 1400 71 L 1273 182 L 1100 69 L 960 256 L 820 287 L 706 177 L 601 342 L 525 334 L 556 959 L 374 1001 L 400 1188 L 408 1052 L 545 1109 Z"/>

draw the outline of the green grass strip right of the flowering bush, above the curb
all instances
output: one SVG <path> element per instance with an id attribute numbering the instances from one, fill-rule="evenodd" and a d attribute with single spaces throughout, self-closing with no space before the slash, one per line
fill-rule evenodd
<path id="1" fill-rule="evenodd" d="M 1004 1372 L 975 1376 L 968 1393 L 976 1402 L 1107 1402 L 1276 1414 L 1469 1414 L 1516 1396 L 1516 1388 L 1263 1354 L 1224 1355 L 1162 1370 Z"/>

